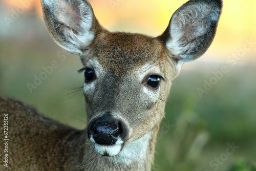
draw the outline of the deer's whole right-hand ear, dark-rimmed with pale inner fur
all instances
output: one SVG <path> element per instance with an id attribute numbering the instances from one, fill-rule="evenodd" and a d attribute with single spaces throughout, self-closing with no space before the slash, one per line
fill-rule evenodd
<path id="1" fill-rule="evenodd" d="M 177 65 L 197 59 L 209 48 L 221 10 L 221 0 L 191 0 L 173 14 L 159 38 L 172 52 Z"/>

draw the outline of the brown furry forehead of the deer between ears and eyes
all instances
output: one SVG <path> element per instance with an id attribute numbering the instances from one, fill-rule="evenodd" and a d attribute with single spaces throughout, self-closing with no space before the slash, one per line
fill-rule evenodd
<path id="1" fill-rule="evenodd" d="M 101 67 L 121 76 L 151 62 L 159 65 L 162 45 L 150 36 L 133 33 L 102 33 L 92 45 Z M 157 61 L 157 63 L 156 63 Z"/>

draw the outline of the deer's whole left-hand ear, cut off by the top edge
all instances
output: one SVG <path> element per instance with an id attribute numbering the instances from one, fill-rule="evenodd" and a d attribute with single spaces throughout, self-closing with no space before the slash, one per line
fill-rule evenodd
<path id="1" fill-rule="evenodd" d="M 82 53 L 103 30 L 86 0 L 42 0 L 50 35 L 62 48 Z"/>

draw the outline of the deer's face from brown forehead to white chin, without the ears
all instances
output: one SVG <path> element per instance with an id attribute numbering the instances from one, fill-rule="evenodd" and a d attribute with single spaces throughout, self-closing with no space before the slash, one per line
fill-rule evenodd
<path id="1" fill-rule="evenodd" d="M 177 71 L 162 44 L 145 35 L 104 33 L 93 47 L 82 57 L 88 136 L 100 154 L 114 156 L 159 124 Z"/>

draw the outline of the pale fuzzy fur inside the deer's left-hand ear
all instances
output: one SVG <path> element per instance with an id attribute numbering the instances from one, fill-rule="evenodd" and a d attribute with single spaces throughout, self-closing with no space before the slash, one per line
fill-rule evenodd
<path id="1" fill-rule="evenodd" d="M 65 44 L 62 48 L 82 53 L 95 37 L 90 31 L 93 22 L 93 11 L 88 2 L 80 0 L 55 0 L 44 1 L 52 10 L 54 18 L 59 23 L 54 29 L 62 34 Z M 57 42 L 59 44 L 59 42 Z"/>

